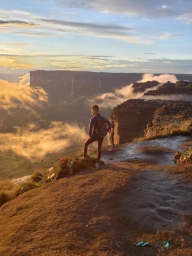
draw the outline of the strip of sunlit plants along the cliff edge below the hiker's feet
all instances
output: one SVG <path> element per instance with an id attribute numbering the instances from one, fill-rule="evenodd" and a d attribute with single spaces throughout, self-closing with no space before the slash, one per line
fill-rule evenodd
<path id="1" fill-rule="evenodd" d="M 91 169 L 96 163 L 96 153 L 89 152 L 86 159 L 79 159 L 82 153 L 75 155 L 75 157 L 65 156 L 59 159 L 50 169 L 39 168 L 31 174 L 30 180 L 27 180 L 18 185 L 14 185 L 10 180 L 0 183 L 0 206 L 6 202 L 15 199 L 20 194 L 32 190 L 34 188 L 50 183 L 52 180 L 59 180 L 68 176 L 75 175 L 81 171 Z M 100 164 L 105 164 L 100 160 Z"/>

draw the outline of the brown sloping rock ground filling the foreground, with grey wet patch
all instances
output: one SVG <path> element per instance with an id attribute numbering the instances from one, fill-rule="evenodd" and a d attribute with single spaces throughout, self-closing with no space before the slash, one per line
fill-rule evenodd
<path id="1" fill-rule="evenodd" d="M 0 208 L 0 255 L 192 255 L 189 181 L 191 166 L 116 162 L 48 183 Z"/>

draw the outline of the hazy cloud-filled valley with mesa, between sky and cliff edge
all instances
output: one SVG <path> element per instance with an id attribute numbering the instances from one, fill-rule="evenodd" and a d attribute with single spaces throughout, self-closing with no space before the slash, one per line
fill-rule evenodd
<path id="1" fill-rule="evenodd" d="M 128 99 L 161 99 L 161 95 L 170 93 L 184 93 L 188 96 L 192 94 L 192 75 L 170 75 L 171 78 L 175 77 L 175 83 L 153 80 L 148 82 L 143 80 L 142 75 L 31 71 L 29 86 L 17 90 L 14 94 L 0 95 L 0 143 L 3 148 L 0 155 L 0 179 L 6 176 L 20 177 L 21 173 L 27 175 L 34 171 L 36 166 L 43 164 L 47 168 L 62 155 L 73 155 L 80 150 L 87 136 L 91 118 L 90 107 L 93 104 L 101 106 L 101 113 L 109 118 L 112 110 Z M 159 76 L 160 74 L 154 75 L 154 80 Z M 176 82 L 177 80 L 189 82 Z M 153 118 L 150 117 L 151 119 Z M 63 127 L 62 124 L 67 126 Z M 142 130 L 143 128 L 145 122 Z M 142 134 L 142 130 L 138 136 Z M 25 143 L 25 139 L 28 139 L 28 142 Z M 41 157 L 43 150 L 47 155 L 47 162 L 43 154 Z M 34 155 L 34 162 L 31 162 L 30 154 L 31 159 Z M 44 163 L 40 163 L 40 157 L 44 159 Z"/>

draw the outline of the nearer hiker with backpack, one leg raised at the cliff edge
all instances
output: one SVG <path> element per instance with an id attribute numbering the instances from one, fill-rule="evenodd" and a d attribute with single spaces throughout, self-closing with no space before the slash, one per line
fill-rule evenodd
<path id="1" fill-rule="evenodd" d="M 85 159 L 87 156 L 87 148 L 88 145 L 93 143 L 94 141 L 97 141 L 97 159 L 96 159 L 96 169 L 98 169 L 98 163 L 101 158 L 101 148 L 103 144 L 103 138 L 104 136 L 101 136 L 101 132 L 99 132 L 99 125 L 98 123 L 100 122 L 100 118 L 103 118 L 104 125 L 105 123 L 108 124 L 108 127 L 106 126 L 106 135 L 108 131 L 111 128 L 110 121 L 107 120 L 103 115 L 101 115 L 99 112 L 99 108 L 97 105 L 91 106 L 91 114 L 94 115 L 93 118 L 90 119 L 89 122 L 89 137 L 87 138 L 87 141 L 84 142 L 84 150 L 83 150 L 83 157 L 79 157 L 79 159 Z M 101 122 L 100 122 L 101 124 Z"/>

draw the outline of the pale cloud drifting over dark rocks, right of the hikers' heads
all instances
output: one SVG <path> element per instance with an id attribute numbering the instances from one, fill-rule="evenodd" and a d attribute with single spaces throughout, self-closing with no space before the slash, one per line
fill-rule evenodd
<path id="1" fill-rule="evenodd" d="M 145 83 L 147 81 L 153 81 L 156 80 L 159 83 L 166 83 L 168 81 L 172 83 L 177 82 L 177 78 L 175 75 L 169 75 L 169 74 L 163 74 L 160 76 L 154 76 L 154 74 L 146 73 L 142 76 L 142 80 L 139 80 L 138 83 Z M 89 104 L 95 104 L 95 102 L 98 102 L 99 106 L 102 108 L 115 108 L 118 104 L 121 104 L 124 101 L 127 101 L 128 99 L 138 99 L 142 97 L 145 92 L 148 92 L 149 90 L 156 90 L 156 88 L 159 86 L 155 86 L 152 88 L 149 88 L 145 90 L 145 92 L 142 93 L 133 93 L 132 85 L 126 85 L 125 87 L 122 87 L 121 89 L 116 89 L 114 93 L 105 93 L 100 94 L 96 96 L 94 99 L 89 100 Z M 158 98 L 159 99 L 159 98 Z"/>

